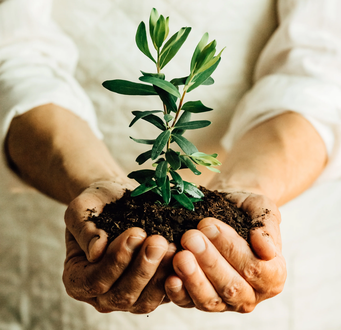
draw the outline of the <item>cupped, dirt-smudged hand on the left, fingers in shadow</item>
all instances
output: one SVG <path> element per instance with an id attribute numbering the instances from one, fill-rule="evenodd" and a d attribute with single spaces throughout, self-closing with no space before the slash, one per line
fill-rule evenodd
<path id="1" fill-rule="evenodd" d="M 102 181 L 74 199 L 65 212 L 66 260 L 63 282 L 69 296 L 102 313 L 153 311 L 165 298 L 164 282 L 172 269 L 175 245 L 159 235 L 147 238 L 130 228 L 107 246 L 107 234 L 87 221 L 122 197 L 125 187 Z"/>

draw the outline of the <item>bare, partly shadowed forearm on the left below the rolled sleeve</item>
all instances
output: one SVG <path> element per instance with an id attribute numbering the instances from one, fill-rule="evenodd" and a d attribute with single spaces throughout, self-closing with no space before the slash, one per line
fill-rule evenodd
<path id="1" fill-rule="evenodd" d="M 63 203 L 98 180 L 125 180 L 88 124 L 53 104 L 15 117 L 5 147 L 23 180 Z"/>

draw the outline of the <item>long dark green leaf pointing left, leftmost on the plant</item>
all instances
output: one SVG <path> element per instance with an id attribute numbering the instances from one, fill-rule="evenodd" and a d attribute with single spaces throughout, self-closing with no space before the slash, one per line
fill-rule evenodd
<path id="1" fill-rule="evenodd" d="M 156 78 L 155 78 L 156 79 Z M 103 82 L 103 87 L 109 91 L 124 95 L 158 95 L 154 87 L 140 84 L 128 80 L 107 80 Z"/>

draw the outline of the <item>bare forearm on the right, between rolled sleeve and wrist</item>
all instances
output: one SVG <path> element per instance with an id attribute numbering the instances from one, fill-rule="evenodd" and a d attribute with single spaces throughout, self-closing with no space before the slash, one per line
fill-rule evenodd
<path id="1" fill-rule="evenodd" d="M 306 190 L 326 161 L 324 142 L 314 127 L 301 115 L 287 112 L 248 131 L 209 188 L 264 194 L 282 205 Z"/>

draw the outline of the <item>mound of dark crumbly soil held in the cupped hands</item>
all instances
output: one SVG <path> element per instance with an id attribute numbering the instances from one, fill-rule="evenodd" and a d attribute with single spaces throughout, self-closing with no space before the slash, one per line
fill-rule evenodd
<path id="1" fill-rule="evenodd" d="M 195 229 L 199 221 L 206 217 L 227 223 L 246 240 L 250 229 L 263 226 L 261 221 L 252 224 L 246 213 L 225 198 L 226 194 L 199 188 L 205 197 L 204 201 L 194 203 L 194 211 L 160 205 L 160 197 L 153 192 L 131 197 L 130 190 L 126 190 L 120 200 L 106 204 L 98 217 L 91 214 L 88 220 L 108 233 L 109 242 L 130 227 L 140 227 L 148 236 L 162 235 L 179 248 L 182 234 L 189 229 Z"/>

